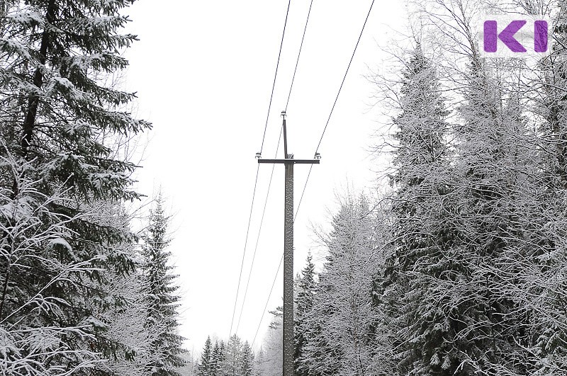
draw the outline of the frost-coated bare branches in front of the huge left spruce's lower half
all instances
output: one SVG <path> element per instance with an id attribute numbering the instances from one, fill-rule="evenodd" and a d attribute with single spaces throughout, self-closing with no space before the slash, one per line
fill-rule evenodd
<path id="1" fill-rule="evenodd" d="M 94 306 L 116 300 L 96 292 L 91 282 L 103 278 L 114 250 L 77 254 L 82 239 L 72 224 L 96 226 L 89 220 L 93 213 L 53 211 L 72 200 L 63 188 L 43 193 L 28 178 L 30 169 L 32 164 L 18 164 L 4 150 L 0 171 L 16 189 L 0 189 L 0 370 L 70 375 L 103 361 L 97 345 L 109 342 L 107 325 Z"/>

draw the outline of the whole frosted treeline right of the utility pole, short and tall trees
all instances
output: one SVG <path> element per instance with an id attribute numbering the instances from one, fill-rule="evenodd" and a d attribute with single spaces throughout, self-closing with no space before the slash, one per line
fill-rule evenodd
<path id="1" fill-rule="evenodd" d="M 491 6 L 416 6 L 432 22 L 377 79 L 391 189 L 347 196 L 298 278 L 298 375 L 567 375 L 567 3 Z M 481 57 L 487 9 L 547 11 L 549 56 Z"/>

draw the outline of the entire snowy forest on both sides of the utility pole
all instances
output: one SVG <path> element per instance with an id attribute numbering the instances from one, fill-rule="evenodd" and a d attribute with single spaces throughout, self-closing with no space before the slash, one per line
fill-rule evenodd
<path id="1" fill-rule="evenodd" d="M 184 348 L 166 200 L 130 205 L 132 2 L 0 1 L 1 375 L 281 375 L 281 307 Z M 408 4 L 369 74 L 388 167 L 296 275 L 296 376 L 567 375 L 567 1 Z M 485 14 L 548 17 L 549 53 L 485 57 Z"/>

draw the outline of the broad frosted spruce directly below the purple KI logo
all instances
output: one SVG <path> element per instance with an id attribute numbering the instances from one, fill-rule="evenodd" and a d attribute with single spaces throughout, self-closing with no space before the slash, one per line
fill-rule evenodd
<path id="1" fill-rule="evenodd" d="M 451 200 L 458 210 L 451 221 L 459 234 L 453 246 L 459 284 L 441 300 L 455 324 L 451 362 L 459 372 L 532 375 L 525 351 L 534 335 L 531 314 L 513 287 L 541 224 L 535 139 L 521 101 L 503 90 L 506 68 L 480 59 L 470 67 L 462 123 L 454 126 L 459 158 Z"/>

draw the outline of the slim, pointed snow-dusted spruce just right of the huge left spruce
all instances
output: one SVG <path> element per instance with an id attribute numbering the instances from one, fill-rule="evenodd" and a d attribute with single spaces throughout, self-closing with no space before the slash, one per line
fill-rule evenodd
<path id="1" fill-rule="evenodd" d="M 142 266 L 147 288 L 146 327 L 161 326 L 152 347 L 159 353 L 159 360 L 150 365 L 152 375 L 178 375 L 175 368 L 184 365 L 179 356 L 183 349 L 183 337 L 177 334 L 179 296 L 174 295 L 179 288 L 174 285 L 177 275 L 172 274 L 173 266 L 169 265 L 167 245 L 170 239 L 167 235 L 169 217 L 165 215 L 162 195 L 159 193 L 155 200 L 155 208 L 150 213 L 149 224 L 144 236 L 142 253 L 145 261 Z M 210 339 L 209 339 L 210 347 Z"/>

